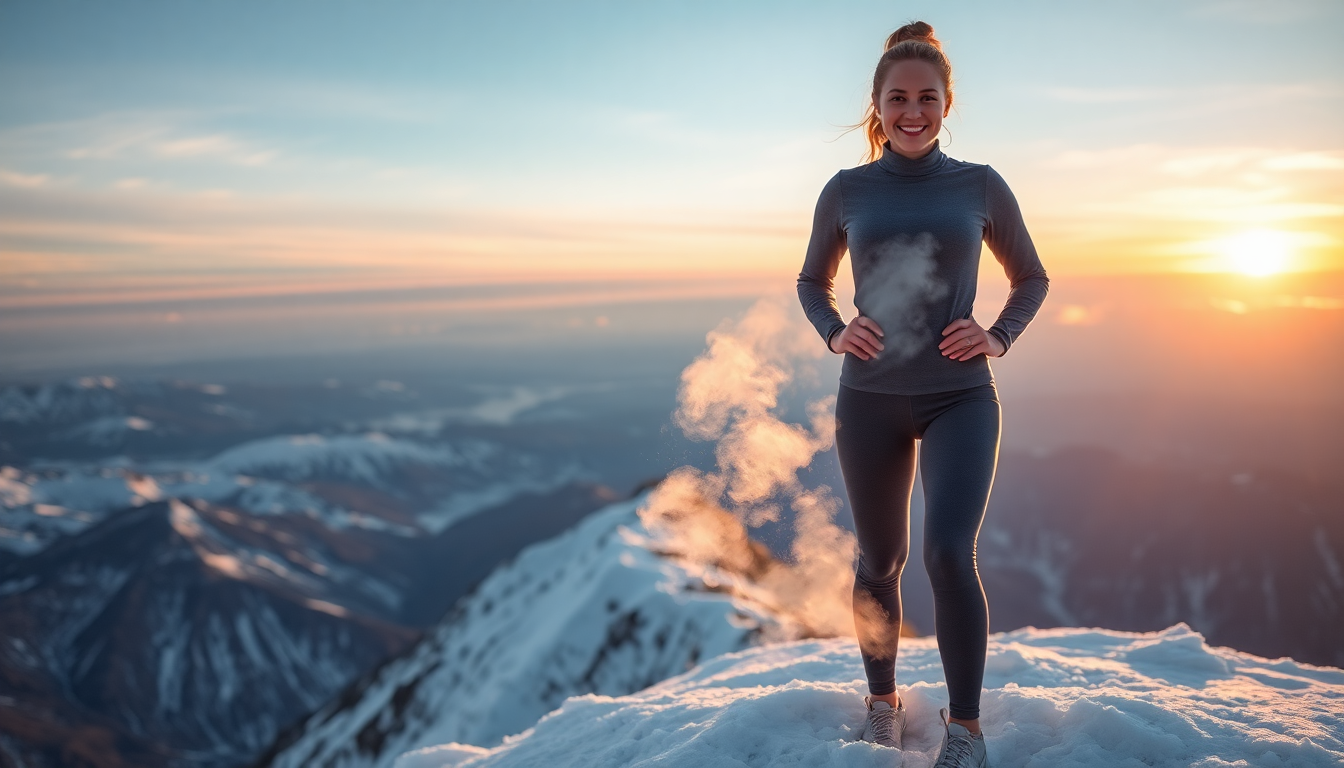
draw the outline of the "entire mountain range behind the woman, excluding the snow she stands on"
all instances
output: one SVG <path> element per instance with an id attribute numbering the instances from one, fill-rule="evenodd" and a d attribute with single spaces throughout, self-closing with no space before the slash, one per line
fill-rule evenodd
<path id="1" fill-rule="evenodd" d="M 806 635 L 757 600 L 750 569 L 648 538 L 638 496 L 594 472 L 636 443 L 511 421 L 558 397 L 0 387 L 0 765 L 495 749 L 570 697 L 634 695 Z M 992 629 L 1185 623 L 1215 646 L 1341 666 L 1339 498 L 1271 468 L 1007 451 L 978 551 Z M 918 542 L 918 499 L 913 523 Z M 750 547 L 737 560 L 773 562 Z M 929 629 L 913 549 L 907 616 Z"/>

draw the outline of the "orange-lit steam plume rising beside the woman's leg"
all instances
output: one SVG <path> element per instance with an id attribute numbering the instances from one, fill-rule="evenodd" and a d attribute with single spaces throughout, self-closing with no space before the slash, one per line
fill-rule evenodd
<path id="1" fill-rule="evenodd" d="M 853 535 L 835 523 L 840 503 L 831 488 L 809 491 L 798 480 L 798 469 L 831 448 L 835 397 L 809 404 L 806 425 L 775 413 L 796 370 L 823 354 L 796 315 L 784 300 L 762 299 L 708 334 L 706 351 L 681 371 L 673 421 L 695 440 L 718 441 L 716 469 L 673 471 L 640 516 L 667 551 L 749 577 L 754 597 L 796 620 L 798 632 L 853 635 Z M 746 529 L 777 521 L 782 504 L 794 511 L 788 564 L 763 555 Z M 880 608 L 860 612 L 860 623 L 880 632 Z"/>

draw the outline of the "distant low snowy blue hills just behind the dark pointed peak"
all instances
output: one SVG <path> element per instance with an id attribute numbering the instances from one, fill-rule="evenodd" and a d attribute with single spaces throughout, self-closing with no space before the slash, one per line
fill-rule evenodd
<path id="1" fill-rule="evenodd" d="M 3 467 L 0 549 L 34 554 L 114 510 L 169 498 L 254 514 L 306 514 L 332 529 L 437 534 L 480 510 L 581 475 L 480 440 L 427 444 L 376 432 L 265 437 L 203 461 Z M 368 494 L 351 498 L 344 492 L 351 484 L 380 491 L 386 500 L 371 506 Z"/>

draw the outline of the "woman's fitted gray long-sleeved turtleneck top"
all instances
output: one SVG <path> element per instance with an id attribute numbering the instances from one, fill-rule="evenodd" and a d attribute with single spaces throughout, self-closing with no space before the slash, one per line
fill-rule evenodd
<path id="1" fill-rule="evenodd" d="M 817 200 L 798 299 L 827 343 L 844 330 L 833 280 L 848 249 L 855 308 L 886 334 L 871 360 L 845 354 L 840 383 L 910 395 L 992 382 L 986 355 L 953 360 L 938 348 L 949 323 L 972 316 L 981 242 L 1011 284 L 986 328 L 1007 351 L 1036 316 L 1050 278 L 1003 178 L 948 157 L 937 141 L 918 160 L 887 144 L 876 163 L 832 176 Z"/>

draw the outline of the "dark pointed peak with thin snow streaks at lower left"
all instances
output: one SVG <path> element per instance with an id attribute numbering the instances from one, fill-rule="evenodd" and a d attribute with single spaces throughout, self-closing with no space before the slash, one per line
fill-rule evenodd
<path id="1" fill-rule="evenodd" d="M 55 738 L 110 721 L 164 745 L 141 764 L 176 765 L 177 752 L 233 765 L 418 639 L 394 620 L 395 584 L 255 522 L 202 500 L 151 502 L 3 572 L 0 682 L 40 722 L 19 732 Z"/>

